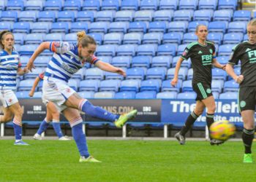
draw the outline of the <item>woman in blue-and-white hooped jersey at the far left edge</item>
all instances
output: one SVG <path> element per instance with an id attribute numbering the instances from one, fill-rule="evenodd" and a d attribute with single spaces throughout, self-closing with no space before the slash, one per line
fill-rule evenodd
<path id="1" fill-rule="evenodd" d="M 13 34 L 10 31 L 1 31 L 0 40 L 0 100 L 4 106 L 4 115 L 0 116 L 0 122 L 12 120 L 15 133 L 14 144 L 27 146 L 29 144 L 21 140 L 23 109 L 18 103 L 15 90 L 17 74 L 21 76 L 29 71 L 27 68 L 21 68 L 20 56 L 13 49 L 15 42 Z"/>

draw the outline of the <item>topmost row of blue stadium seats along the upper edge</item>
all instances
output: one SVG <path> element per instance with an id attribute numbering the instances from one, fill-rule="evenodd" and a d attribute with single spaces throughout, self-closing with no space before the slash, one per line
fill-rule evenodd
<path id="1" fill-rule="evenodd" d="M 20 10 L 119 10 L 119 9 L 236 9 L 237 0 L 85 0 L 85 1 L 1 1 L 0 9 Z"/>

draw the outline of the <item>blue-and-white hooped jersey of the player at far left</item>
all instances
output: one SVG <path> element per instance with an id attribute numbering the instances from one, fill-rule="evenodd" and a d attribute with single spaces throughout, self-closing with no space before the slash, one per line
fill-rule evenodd
<path id="1" fill-rule="evenodd" d="M 0 90 L 16 90 L 17 70 L 20 68 L 20 55 L 12 51 L 9 55 L 5 50 L 0 52 Z"/>

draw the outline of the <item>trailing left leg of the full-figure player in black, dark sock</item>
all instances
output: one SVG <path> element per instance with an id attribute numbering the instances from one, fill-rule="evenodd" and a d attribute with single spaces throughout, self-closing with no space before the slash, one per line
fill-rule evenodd
<path id="1" fill-rule="evenodd" d="M 180 132 L 177 132 L 175 138 L 179 141 L 181 145 L 184 145 L 186 142 L 185 135 L 197 120 L 197 117 L 203 113 L 203 109 L 205 108 L 203 102 L 197 100 L 194 111 L 187 117 L 187 120 L 184 126 L 181 128 Z"/>

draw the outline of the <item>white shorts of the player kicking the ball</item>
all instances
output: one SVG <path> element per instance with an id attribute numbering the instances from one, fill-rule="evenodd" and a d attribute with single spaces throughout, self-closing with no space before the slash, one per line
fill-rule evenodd
<path id="1" fill-rule="evenodd" d="M 63 111 L 65 101 L 75 93 L 75 90 L 67 85 L 67 82 L 45 76 L 42 84 L 42 102 L 47 105 L 53 102 L 59 111 Z"/>

